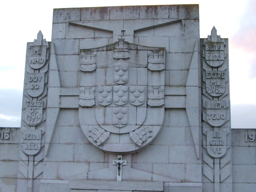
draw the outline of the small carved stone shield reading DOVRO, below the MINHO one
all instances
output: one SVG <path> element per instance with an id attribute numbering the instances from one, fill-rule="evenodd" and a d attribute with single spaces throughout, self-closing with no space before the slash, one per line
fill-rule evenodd
<path id="1" fill-rule="evenodd" d="M 44 73 L 26 75 L 26 90 L 31 97 L 38 97 L 44 92 Z"/>

